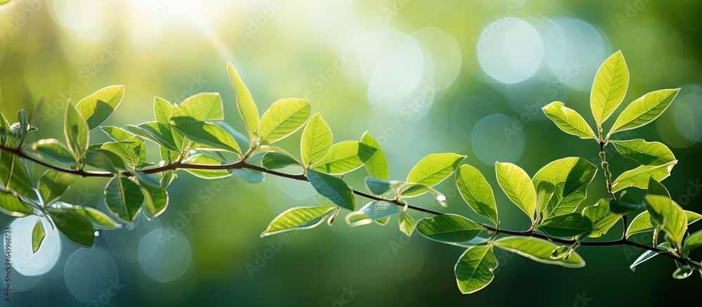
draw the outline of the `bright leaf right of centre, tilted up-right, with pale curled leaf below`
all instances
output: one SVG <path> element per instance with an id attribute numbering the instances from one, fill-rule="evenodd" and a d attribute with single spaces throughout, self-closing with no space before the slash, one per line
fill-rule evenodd
<path id="1" fill-rule="evenodd" d="M 454 153 L 436 153 L 421 159 L 415 165 L 409 175 L 407 182 L 419 183 L 432 187 L 448 178 L 453 171 L 456 171 L 458 164 L 465 159 L 465 156 Z"/>

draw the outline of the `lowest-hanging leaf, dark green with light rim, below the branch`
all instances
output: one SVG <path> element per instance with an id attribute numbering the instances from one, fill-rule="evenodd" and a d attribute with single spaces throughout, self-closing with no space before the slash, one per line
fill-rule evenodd
<path id="1" fill-rule="evenodd" d="M 456 262 L 456 267 L 453 268 L 458 289 L 463 294 L 477 292 L 492 282 L 496 268 L 497 259 L 491 246 L 475 246 L 466 249 Z"/>

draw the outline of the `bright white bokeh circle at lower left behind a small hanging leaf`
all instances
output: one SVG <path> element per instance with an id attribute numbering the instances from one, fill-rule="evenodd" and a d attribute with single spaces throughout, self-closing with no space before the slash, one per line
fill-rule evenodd
<path id="1" fill-rule="evenodd" d="M 32 251 L 32 230 L 37 220 L 44 226 L 46 237 L 36 253 Z M 12 267 L 26 276 L 43 275 L 55 266 L 61 254 L 61 239 L 56 228 L 45 218 L 26 216 L 8 224 L 11 234 Z M 3 237 L 7 229 L 4 230 Z"/>

